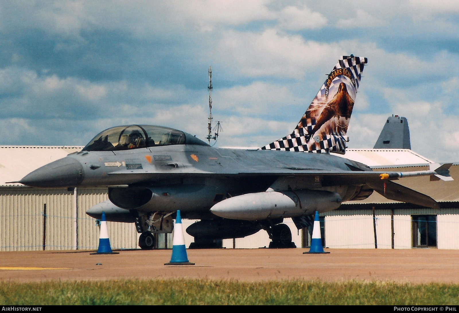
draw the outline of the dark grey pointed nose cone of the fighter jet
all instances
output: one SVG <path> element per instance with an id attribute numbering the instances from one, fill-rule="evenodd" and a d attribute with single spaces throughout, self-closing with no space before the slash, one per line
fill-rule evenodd
<path id="1" fill-rule="evenodd" d="M 83 166 L 71 157 L 42 166 L 27 174 L 19 183 L 31 187 L 75 187 L 83 181 Z"/>

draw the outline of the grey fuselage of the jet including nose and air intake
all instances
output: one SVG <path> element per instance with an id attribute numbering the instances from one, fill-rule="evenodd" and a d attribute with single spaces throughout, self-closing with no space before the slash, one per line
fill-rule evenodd
<path id="1" fill-rule="evenodd" d="M 295 178 L 304 171 L 351 171 L 346 163 L 361 171 L 370 170 L 357 162 L 325 154 L 202 145 L 155 146 L 80 151 L 40 167 L 22 183 L 55 188 L 109 186 L 110 200 L 124 209 L 182 210 L 186 216 L 205 216 L 221 200 L 268 188 L 328 190 L 348 200 L 358 186 L 333 186 L 321 175 Z"/>

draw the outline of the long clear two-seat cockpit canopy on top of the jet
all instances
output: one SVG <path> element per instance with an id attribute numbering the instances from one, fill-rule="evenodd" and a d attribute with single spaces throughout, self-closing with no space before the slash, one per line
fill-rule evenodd
<path id="1" fill-rule="evenodd" d="M 152 125 L 116 126 L 95 136 L 83 151 L 120 151 L 170 145 L 208 146 L 180 130 Z"/>

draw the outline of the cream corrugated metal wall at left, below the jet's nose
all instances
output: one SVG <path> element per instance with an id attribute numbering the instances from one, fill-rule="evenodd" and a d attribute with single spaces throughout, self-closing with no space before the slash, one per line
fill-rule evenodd
<path id="1" fill-rule="evenodd" d="M 85 214 L 107 200 L 106 189 L 78 189 L 78 219 L 73 192 L 62 189 L 0 188 L 0 251 L 42 250 L 46 204 L 46 250 L 96 249 L 99 227 Z M 75 222 L 77 221 L 77 223 Z M 134 223 L 107 223 L 112 248 L 137 248 Z"/>

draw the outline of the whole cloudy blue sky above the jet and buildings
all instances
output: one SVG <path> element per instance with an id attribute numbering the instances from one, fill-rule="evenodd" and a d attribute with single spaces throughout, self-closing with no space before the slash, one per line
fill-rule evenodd
<path id="1" fill-rule="evenodd" d="M 372 148 L 388 116 L 411 147 L 459 162 L 459 2 L 1 1 L 0 145 L 86 145 L 122 124 L 216 146 L 291 133 L 342 55 L 368 58 L 347 135 Z"/>

